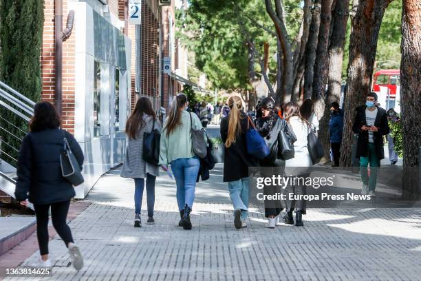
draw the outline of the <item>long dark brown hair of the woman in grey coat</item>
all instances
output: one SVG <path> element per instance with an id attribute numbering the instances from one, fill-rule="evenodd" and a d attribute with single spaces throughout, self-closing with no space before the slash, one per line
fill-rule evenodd
<path id="1" fill-rule="evenodd" d="M 151 101 L 149 101 L 149 98 L 142 96 L 138 99 L 135 109 L 131 113 L 129 119 L 127 119 L 126 134 L 129 138 L 136 140 L 140 129 L 145 125 L 143 121 L 144 114 L 152 116 L 152 119 L 155 121 L 156 114 L 153 111 Z"/>

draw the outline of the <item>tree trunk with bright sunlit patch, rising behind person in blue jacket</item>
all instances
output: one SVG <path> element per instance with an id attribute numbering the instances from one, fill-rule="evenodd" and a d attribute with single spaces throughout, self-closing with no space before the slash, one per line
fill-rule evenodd
<path id="1" fill-rule="evenodd" d="M 332 15 L 332 35 L 330 36 L 328 61 L 329 73 L 327 78 L 327 94 L 325 96 L 325 110 L 323 117 L 319 121 L 319 139 L 325 148 L 326 160 L 330 159 L 330 103 L 341 101 L 341 80 L 343 47 L 345 45 L 345 36 L 347 34 L 347 21 L 349 16 L 349 0 L 338 0 Z"/>

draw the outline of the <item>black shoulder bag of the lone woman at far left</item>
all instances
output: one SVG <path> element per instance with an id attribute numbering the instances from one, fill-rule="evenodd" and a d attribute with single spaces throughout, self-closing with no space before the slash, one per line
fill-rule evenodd
<path id="1" fill-rule="evenodd" d="M 80 169 L 78 160 L 76 160 L 72 149 L 70 149 L 64 131 L 63 136 L 64 149 L 60 154 L 61 174 L 63 175 L 63 178 L 76 187 L 84 181 L 81 172 L 82 169 Z"/>

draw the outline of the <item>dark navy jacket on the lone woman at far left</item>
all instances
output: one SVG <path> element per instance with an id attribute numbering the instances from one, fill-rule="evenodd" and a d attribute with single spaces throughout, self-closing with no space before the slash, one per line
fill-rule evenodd
<path id="1" fill-rule="evenodd" d="M 46 129 L 27 134 L 19 152 L 18 179 L 14 191 L 18 201 L 28 198 L 34 204 L 51 204 L 70 200 L 76 195 L 72 184 L 61 174 L 60 154 L 64 149 L 64 136 L 82 167 L 82 149 L 69 132 Z"/>

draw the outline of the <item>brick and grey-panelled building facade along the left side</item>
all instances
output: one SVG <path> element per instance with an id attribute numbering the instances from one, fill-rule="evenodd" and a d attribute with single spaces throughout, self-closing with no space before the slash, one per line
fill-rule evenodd
<path id="1" fill-rule="evenodd" d="M 63 43 L 63 129 L 85 154 L 85 183 L 76 187 L 76 198 L 123 162 L 125 123 L 138 98 L 147 96 L 164 119 L 172 96 L 182 90 L 177 77 L 187 78 L 187 59 L 175 38 L 175 1 L 160 1 L 63 0 L 63 26 L 74 10 L 72 34 Z M 133 3 L 140 5 L 140 24 L 129 21 Z M 45 0 L 44 16 L 42 98 L 54 102 L 54 0 Z M 166 74 L 165 58 L 171 61 Z"/>

